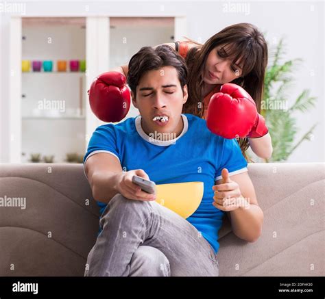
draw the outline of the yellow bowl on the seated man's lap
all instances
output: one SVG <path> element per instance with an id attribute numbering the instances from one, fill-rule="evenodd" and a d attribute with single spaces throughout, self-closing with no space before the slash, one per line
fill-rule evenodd
<path id="1" fill-rule="evenodd" d="M 203 182 L 156 185 L 156 202 L 188 218 L 199 207 L 203 197 Z"/>

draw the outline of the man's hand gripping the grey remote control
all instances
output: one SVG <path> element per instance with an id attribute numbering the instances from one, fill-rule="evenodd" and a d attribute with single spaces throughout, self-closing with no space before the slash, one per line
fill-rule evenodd
<path id="1" fill-rule="evenodd" d="M 149 180 L 144 170 L 136 169 L 128 172 L 119 172 L 117 175 L 117 192 L 122 194 L 125 198 L 142 201 L 152 201 L 156 199 L 156 194 L 144 192 L 141 190 L 141 187 L 132 182 L 132 177 L 134 175 Z"/>

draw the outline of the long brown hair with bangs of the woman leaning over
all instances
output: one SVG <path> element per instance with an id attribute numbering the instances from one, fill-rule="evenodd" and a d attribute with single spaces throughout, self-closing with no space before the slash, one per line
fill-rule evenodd
<path id="1" fill-rule="evenodd" d="M 211 36 L 204 44 L 197 42 L 195 44 L 197 47 L 193 47 L 186 55 L 186 64 L 189 68 L 189 98 L 183 107 L 183 113 L 203 117 L 205 94 L 202 74 L 210 51 L 221 44 L 227 45 L 229 49 L 225 58 L 243 64 L 241 77 L 234 79 L 232 83 L 244 88 L 254 99 L 258 113 L 261 112 L 268 52 L 267 43 L 257 27 L 249 23 L 234 24 Z M 239 138 L 237 141 L 246 157 L 245 151 L 250 146 L 248 138 Z"/>

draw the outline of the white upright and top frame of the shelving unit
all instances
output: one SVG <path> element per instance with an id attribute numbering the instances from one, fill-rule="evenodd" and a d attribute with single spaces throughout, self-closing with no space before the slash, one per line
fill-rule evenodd
<path id="1" fill-rule="evenodd" d="M 77 17 L 86 18 L 86 90 L 88 90 L 97 75 L 109 70 L 110 17 L 116 16 L 83 15 Z M 132 18 L 139 17 L 139 15 L 128 15 L 125 17 Z M 141 17 L 152 17 L 152 15 L 141 15 Z M 161 14 L 155 15 L 155 17 L 173 17 L 175 19 L 175 40 L 181 40 L 182 36 L 186 36 L 186 16 L 166 16 Z M 21 163 L 21 23 L 21 16 L 12 16 L 10 18 L 10 103 L 8 105 L 8 135 L 10 140 L 0 140 L 2 144 L 8 146 L 9 163 Z M 88 146 L 88 140 L 91 138 L 93 131 L 101 124 L 104 124 L 104 122 L 101 122 L 95 117 L 93 112 L 91 112 L 89 102 L 86 101 L 86 147 Z"/>

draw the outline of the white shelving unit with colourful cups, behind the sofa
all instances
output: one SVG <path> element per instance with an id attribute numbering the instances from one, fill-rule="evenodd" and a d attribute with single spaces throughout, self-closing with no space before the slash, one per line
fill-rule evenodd
<path id="1" fill-rule="evenodd" d="M 173 24 L 171 24 L 171 31 L 169 28 L 167 35 L 164 35 L 158 29 L 157 20 L 162 21 L 163 24 L 166 23 L 167 18 L 169 23 L 170 19 L 173 19 Z M 155 26 L 148 25 L 151 21 L 157 25 L 156 34 Z M 139 34 L 136 34 L 136 26 L 139 26 Z M 144 26 L 143 29 L 141 26 Z M 145 31 L 145 28 L 150 27 L 155 38 L 150 37 L 149 31 Z M 83 30 L 82 41 L 79 35 L 81 29 Z M 125 36 L 127 32 L 128 46 L 121 40 L 121 35 Z M 25 36 L 24 40 L 22 36 Z M 93 131 L 104 124 L 95 118 L 88 103 L 86 90 L 91 86 L 93 79 L 117 64 L 127 63 L 130 55 L 141 47 L 170 42 L 171 36 L 175 40 L 186 36 L 185 16 L 165 16 L 163 12 L 161 16 L 157 15 L 154 18 L 146 15 L 128 15 L 128 18 L 123 18 L 122 16 L 86 16 L 86 14 L 73 18 L 12 16 L 10 98 L 8 99 L 10 140 L 6 144 L 10 153 L 8 162 L 26 162 L 30 153 L 56 155 L 56 162 L 64 161 L 66 153 L 84 153 Z M 32 40 L 39 38 L 43 45 L 27 42 L 30 38 Z M 132 40 L 132 38 L 136 39 Z M 137 40 L 138 44 L 136 44 Z M 119 45 L 120 48 L 117 47 Z M 52 60 L 54 71 L 22 73 L 22 60 Z M 86 73 L 56 72 L 57 60 L 68 62 L 86 60 Z M 22 98 L 23 94 L 25 97 Z M 38 103 L 44 99 L 65 101 L 64 113 L 38 109 Z M 136 114 L 137 111 L 132 107 L 127 117 Z M 22 156 L 22 153 L 25 153 L 25 156 Z"/>

